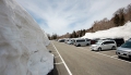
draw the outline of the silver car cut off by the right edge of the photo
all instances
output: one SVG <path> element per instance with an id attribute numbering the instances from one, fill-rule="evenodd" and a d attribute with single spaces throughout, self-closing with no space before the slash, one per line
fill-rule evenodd
<path id="1" fill-rule="evenodd" d="M 123 45 L 121 45 L 117 51 L 116 54 L 118 58 L 129 58 L 131 59 L 131 39 L 127 40 Z"/>

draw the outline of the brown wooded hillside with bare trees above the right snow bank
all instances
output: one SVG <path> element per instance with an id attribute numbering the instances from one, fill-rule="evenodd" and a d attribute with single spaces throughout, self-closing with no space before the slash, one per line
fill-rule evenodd
<path id="1" fill-rule="evenodd" d="M 93 26 L 86 29 L 86 33 L 94 33 L 97 30 L 109 29 L 116 26 L 122 26 L 128 21 L 131 21 L 131 4 L 127 8 L 121 8 L 114 13 L 114 17 L 111 20 L 107 20 L 106 17 L 102 21 L 95 21 Z"/>

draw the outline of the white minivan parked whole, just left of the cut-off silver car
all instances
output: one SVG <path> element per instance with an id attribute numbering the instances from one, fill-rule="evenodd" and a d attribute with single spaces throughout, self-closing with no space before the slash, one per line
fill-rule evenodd
<path id="1" fill-rule="evenodd" d="M 95 45 L 91 46 L 91 50 L 100 51 L 108 49 L 116 49 L 117 45 L 115 40 L 98 40 Z"/>

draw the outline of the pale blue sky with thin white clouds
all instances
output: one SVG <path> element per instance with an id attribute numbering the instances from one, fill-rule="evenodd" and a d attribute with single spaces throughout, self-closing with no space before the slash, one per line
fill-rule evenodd
<path id="1" fill-rule="evenodd" d="M 94 21 L 110 20 L 131 0 L 16 0 L 48 34 L 87 29 Z"/>

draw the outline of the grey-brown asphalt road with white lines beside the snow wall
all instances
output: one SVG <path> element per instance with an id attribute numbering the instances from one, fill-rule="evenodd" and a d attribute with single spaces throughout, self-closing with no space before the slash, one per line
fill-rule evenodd
<path id="1" fill-rule="evenodd" d="M 131 61 L 118 59 L 116 50 L 96 52 L 90 46 L 51 42 L 47 48 L 55 54 L 53 75 L 131 75 Z"/>

